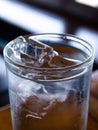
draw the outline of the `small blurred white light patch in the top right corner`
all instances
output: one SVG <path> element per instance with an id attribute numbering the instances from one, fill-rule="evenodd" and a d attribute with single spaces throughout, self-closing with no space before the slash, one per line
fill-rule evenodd
<path id="1" fill-rule="evenodd" d="M 98 0 L 75 0 L 75 1 L 88 6 L 98 7 Z"/>

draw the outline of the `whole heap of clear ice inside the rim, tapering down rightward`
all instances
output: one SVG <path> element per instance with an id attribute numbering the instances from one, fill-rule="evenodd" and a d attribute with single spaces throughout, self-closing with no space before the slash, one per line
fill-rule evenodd
<path id="1" fill-rule="evenodd" d="M 12 42 L 9 52 L 11 58 L 19 64 L 38 68 L 68 67 L 76 64 L 75 61 L 60 56 L 53 47 L 32 36 L 20 36 Z"/>

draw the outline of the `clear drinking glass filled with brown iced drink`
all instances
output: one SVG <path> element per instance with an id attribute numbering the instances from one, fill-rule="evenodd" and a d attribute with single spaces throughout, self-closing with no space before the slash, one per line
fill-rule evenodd
<path id="1" fill-rule="evenodd" d="M 72 35 L 19 36 L 4 48 L 13 130 L 86 130 L 94 49 Z"/>

